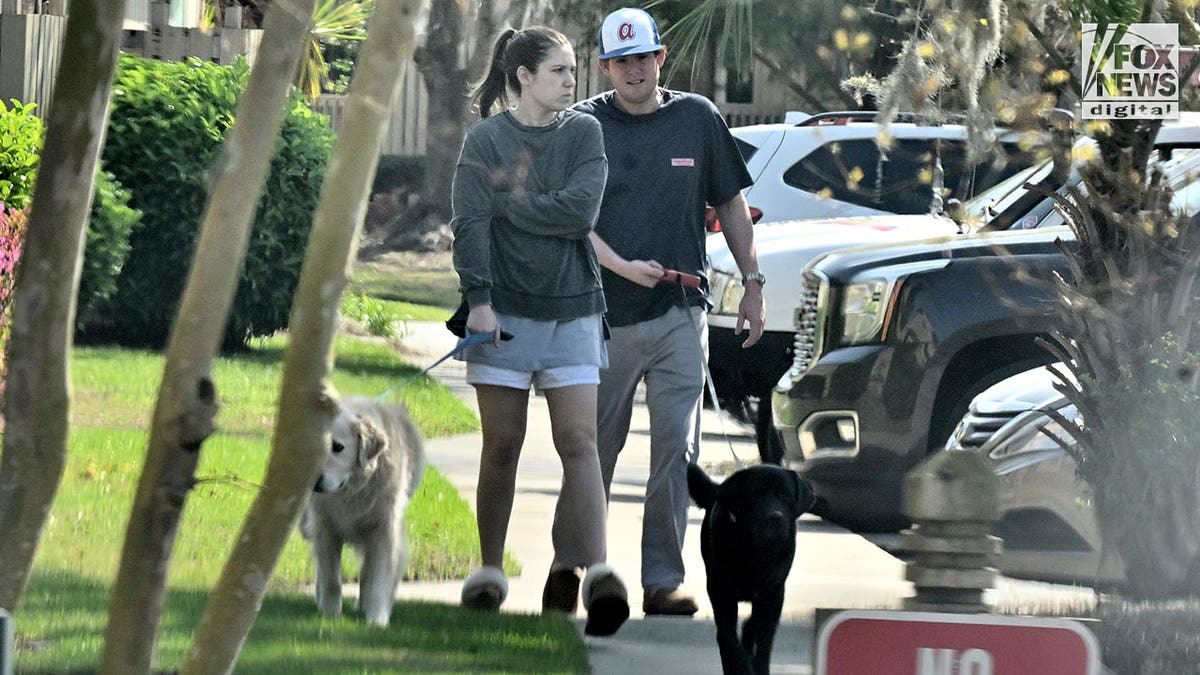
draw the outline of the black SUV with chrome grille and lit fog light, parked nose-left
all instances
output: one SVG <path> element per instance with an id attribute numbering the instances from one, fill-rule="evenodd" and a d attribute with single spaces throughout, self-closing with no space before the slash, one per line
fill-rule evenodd
<path id="1" fill-rule="evenodd" d="M 1157 145 L 1198 141 L 1195 125 L 1174 125 Z M 1160 160 L 1177 205 L 1194 213 L 1200 150 Z M 902 527 L 904 474 L 944 446 L 971 399 L 1051 360 L 1036 339 L 1057 325 L 1052 280 L 1067 262 L 1055 241 L 1072 233 L 1049 201 L 1038 211 L 1014 223 L 1031 231 L 847 249 L 805 269 L 794 359 L 773 411 L 785 460 L 829 502 L 832 519 Z"/>

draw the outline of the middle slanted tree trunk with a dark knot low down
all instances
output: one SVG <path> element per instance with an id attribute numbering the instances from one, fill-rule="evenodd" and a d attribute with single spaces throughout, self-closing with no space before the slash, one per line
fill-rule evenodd
<path id="1" fill-rule="evenodd" d="M 218 159 L 218 175 L 172 325 L 145 468 L 113 585 L 101 673 L 149 673 L 167 595 L 167 568 L 200 446 L 212 432 L 212 359 L 246 257 L 250 226 L 283 121 L 314 0 L 278 0 Z"/>

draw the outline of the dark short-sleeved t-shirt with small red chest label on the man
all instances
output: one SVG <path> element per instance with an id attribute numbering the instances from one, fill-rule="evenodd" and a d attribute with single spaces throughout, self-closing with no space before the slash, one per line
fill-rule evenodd
<path id="1" fill-rule="evenodd" d="M 656 259 L 689 274 L 704 273 L 704 207 L 721 205 L 750 185 L 742 153 L 721 112 L 697 94 L 662 90 L 662 106 L 625 113 L 606 91 L 576 103 L 600 120 L 608 181 L 596 234 L 626 259 Z M 688 304 L 709 306 L 708 281 L 688 289 Z M 679 305 L 679 287 L 638 286 L 604 270 L 612 325 L 662 316 Z"/>

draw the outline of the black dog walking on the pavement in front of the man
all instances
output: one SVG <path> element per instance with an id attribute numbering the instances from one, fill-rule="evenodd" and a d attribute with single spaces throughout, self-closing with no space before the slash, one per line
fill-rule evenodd
<path id="1" fill-rule="evenodd" d="M 688 492 L 704 509 L 700 551 L 726 675 L 768 675 L 784 609 L 784 583 L 796 556 L 796 520 L 812 508 L 812 489 L 774 465 L 743 468 L 714 483 L 688 466 Z M 738 639 L 738 603 L 751 603 Z"/>

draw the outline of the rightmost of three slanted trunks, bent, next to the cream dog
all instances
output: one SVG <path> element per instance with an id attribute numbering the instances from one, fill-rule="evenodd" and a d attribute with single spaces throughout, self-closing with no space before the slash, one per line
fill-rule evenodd
<path id="1" fill-rule="evenodd" d="M 229 673 L 258 614 L 280 551 L 312 491 L 336 412 L 337 311 L 354 261 L 384 129 L 413 52 L 422 0 L 379 0 L 359 53 L 346 123 L 322 185 L 292 307 L 271 459 L 236 546 L 204 610 L 182 673 Z"/>

